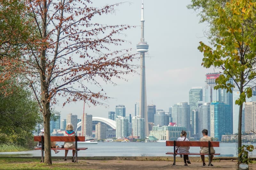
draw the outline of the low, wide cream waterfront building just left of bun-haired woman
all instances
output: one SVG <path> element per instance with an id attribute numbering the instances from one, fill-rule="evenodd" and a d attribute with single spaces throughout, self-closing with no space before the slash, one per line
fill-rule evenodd
<path id="1" fill-rule="evenodd" d="M 157 140 L 177 140 L 180 137 L 182 130 L 186 130 L 185 127 L 177 126 L 153 126 L 149 133 L 149 137 L 156 138 Z M 187 131 L 187 138 L 189 138 L 189 132 Z M 149 139 L 150 140 L 150 139 Z"/>

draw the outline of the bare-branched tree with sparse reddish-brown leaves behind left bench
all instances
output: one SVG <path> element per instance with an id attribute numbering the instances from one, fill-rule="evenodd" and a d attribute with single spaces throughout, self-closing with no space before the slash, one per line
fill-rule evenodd
<path id="1" fill-rule="evenodd" d="M 120 33 L 130 26 L 93 22 L 97 16 L 113 13 L 120 4 L 95 8 L 90 0 L 26 1 L 24 12 L 33 18 L 32 26 L 37 26 L 33 31 L 36 38 L 29 40 L 26 54 L 2 63 L 2 75 L 22 75 L 20 81 L 35 94 L 44 119 L 46 164 L 52 164 L 50 117 L 57 97 L 66 98 L 63 106 L 77 100 L 104 104 L 108 96 L 101 81 L 114 83 L 113 77 L 122 78 L 135 68 L 129 50 L 118 47 L 125 42 L 118 38 Z"/>

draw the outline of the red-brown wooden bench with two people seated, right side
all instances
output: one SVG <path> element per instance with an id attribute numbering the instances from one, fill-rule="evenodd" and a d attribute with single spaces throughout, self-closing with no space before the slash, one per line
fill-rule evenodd
<path id="1" fill-rule="evenodd" d="M 173 155 L 173 164 L 176 165 L 176 155 L 208 155 L 209 157 L 209 164 L 211 165 L 211 155 L 220 155 L 220 153 L 211 153 L 210 147 L 220 147 L 220 142 L 212 142 L 212 141 L 166 141 L 166 146 L 173 146 L 173 152 L 167 152 L 165 154 L 172 154 Z M 199 146 L 199 147 L 208 147 L 209 153 L 176 153 L 176 146 Z M 198 149 L 199 151 L 199 149 Z"/>

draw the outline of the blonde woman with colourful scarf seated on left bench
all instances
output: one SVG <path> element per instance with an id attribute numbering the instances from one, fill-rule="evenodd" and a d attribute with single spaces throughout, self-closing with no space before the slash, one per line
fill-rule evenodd
<path id="1" fill-rule="evenodd" d="M 64 136 L 75 136 L 74 128 L 71 123 L 68 123 Z M 64 142 L 64 148 L 76 148 L 75 142 Z M 75 162 L 76 151 L 72 150 L 72 153 L 73 153 L 72 162 Z M 68 155 L 68 150 L 65 150 L 64 160 L 67 160 L 67 155 Z"/>

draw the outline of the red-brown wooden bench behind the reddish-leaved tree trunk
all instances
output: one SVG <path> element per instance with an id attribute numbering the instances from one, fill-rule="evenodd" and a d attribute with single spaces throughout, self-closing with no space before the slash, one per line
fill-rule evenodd
<path id="1" fill-rule="evenodd" d="M 75 142 L 75 148 L 51 148 L 51 150 L 75 150 L 76 151 L 76 158 L 75 162 L 77 162 L 77 151 L 79 150 L 86 150 L 88 148 L 77 148 L 78 141 L 84 141 L 84 136 L 51 136 L 51 141 L 55 142 Z M 41 142 L 42 148 L 35 148 L 35 150 L 41 150 L 42 158 L 41 162 L 44 162 L 44 136 L 34 136 L 34 141 Z"/>

